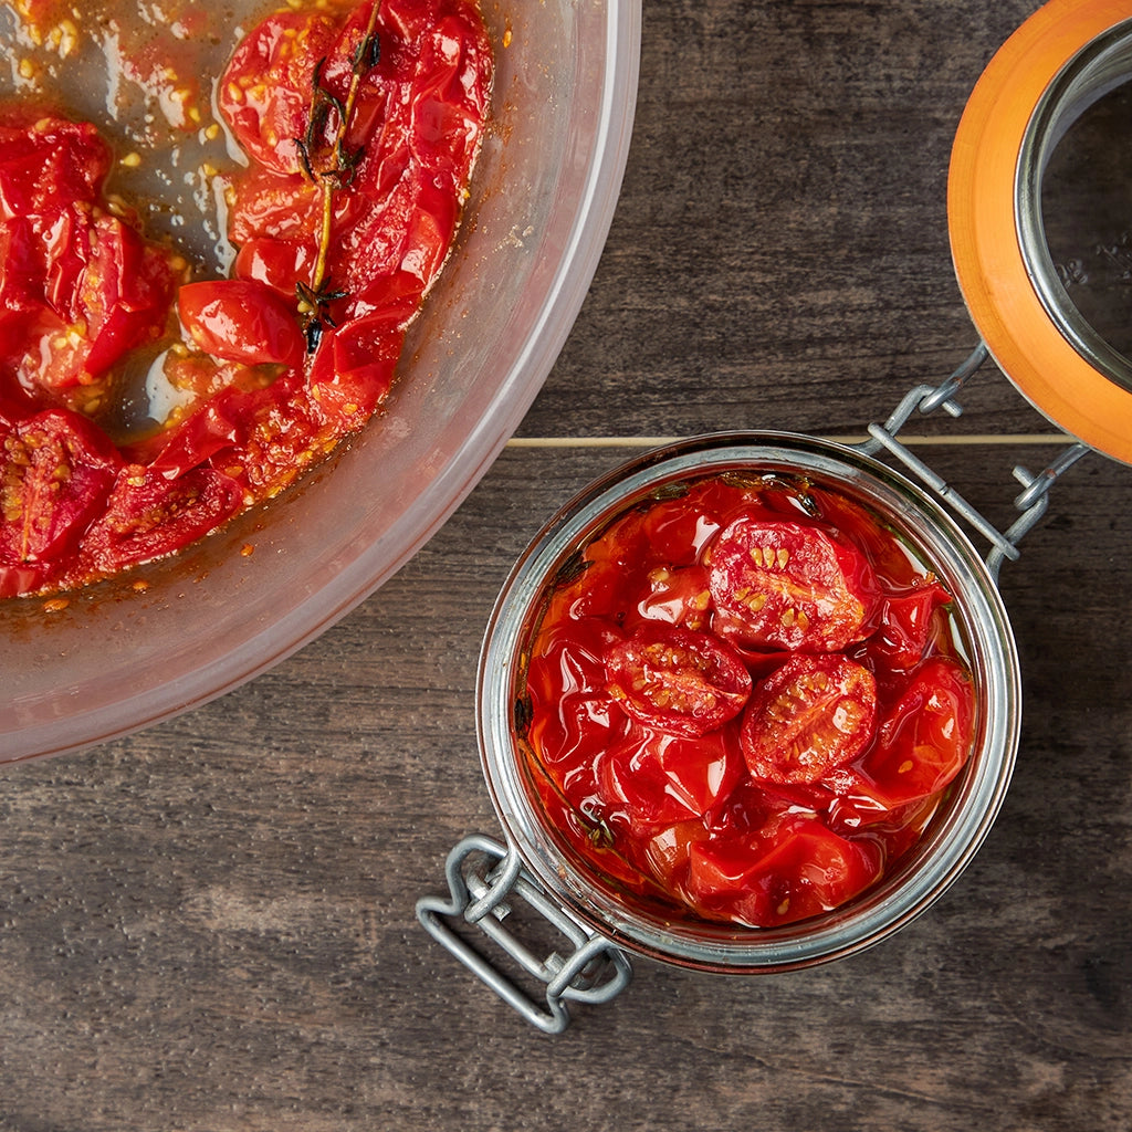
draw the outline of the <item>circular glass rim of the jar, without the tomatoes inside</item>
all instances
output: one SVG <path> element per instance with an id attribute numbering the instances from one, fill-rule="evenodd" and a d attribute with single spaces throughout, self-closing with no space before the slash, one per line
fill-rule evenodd
<path id="1" fill-rule="evenodd" d="M 681 481 L 744 473 L 800 477 L 873 512 L 952 594 L 953 629 L 976 687 L 971 756 L 915 848 L 848 904 L 781 927 L 672 919 L 634 901 L 571 850 L 547 818 L 516 735 L 530 643 L 564 565 L 634 505 Z M 531 543 L 489 621 L 478 683 L 479 740 L 508 842 L 538 883 L 580 923 L 619 947 L 712 971 L 780 971 L 859 951 L 902 927 L 943 893 L 986 837 L 1010 781 L 1020 685 L 1010 623 L 986 565 L 931 496 L 852 448 L 787 434 L 721 434 L 642 456 L 568 503 Z"/>

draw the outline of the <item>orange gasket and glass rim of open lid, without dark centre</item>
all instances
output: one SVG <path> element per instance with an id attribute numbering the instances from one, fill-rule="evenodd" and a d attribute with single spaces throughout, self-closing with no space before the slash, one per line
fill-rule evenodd
<path id="1" fill-rule="evenodd" d="M 1054 423 L 1124 463 L 1132 463 L 1132 360 L 1087 325 L 1058 280 L 1040 182 L 1072 121 L 1129 78 L 1132 0 L 1052 0 L 976 85 L 947 187 L 955 273 L 990 354 Z"/>

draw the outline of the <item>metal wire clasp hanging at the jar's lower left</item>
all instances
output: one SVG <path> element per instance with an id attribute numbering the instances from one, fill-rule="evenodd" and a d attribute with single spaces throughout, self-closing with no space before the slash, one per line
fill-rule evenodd
<path id="1" fill-rule="evenodd" d="M 474 867 L 477 856 L 495 864 L 481 873 Z M 445 876 L 449 898 L 422 897 L 417 901 L 417 918 L 432 938 L 544 1034 L 561 1034 L 569 1026 L 569 1002 L 608 1002 L 628 986 L 633 975 L 628 957 L 555 904 L 522 867 L 514 848 L 473 834 L 448 854 Z M 511 895 L 522 898 L 573 950 L 565 958 L 552 951 L 546 959 L 537 959 L 503 926 L 513 910 L 506 901 Z M 546 1009 L 453 931 L 446 918 L 455 916 L 478 927 L 528 975 L 544 984 Z"/>

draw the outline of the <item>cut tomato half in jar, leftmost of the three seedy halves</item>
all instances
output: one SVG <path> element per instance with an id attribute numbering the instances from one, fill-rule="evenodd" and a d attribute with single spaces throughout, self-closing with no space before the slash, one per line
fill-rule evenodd
<path id="1" fill-rule="evenodd" d="M 722 641 L 645 621 L 607 650 L 606 688 L 638 722 L 672 735 L 700 736 L 743 711 L 751 675 Z"/>

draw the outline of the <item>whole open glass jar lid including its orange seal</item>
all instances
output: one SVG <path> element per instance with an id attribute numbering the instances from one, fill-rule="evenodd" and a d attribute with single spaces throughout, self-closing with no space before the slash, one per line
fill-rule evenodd
<path id="1" fill-rule="evenodd" d="M 955 136 L 952 256 L 990 355 L 1045 417 L 1132 463 L 1132 0 L 1052 0 Z"/>

